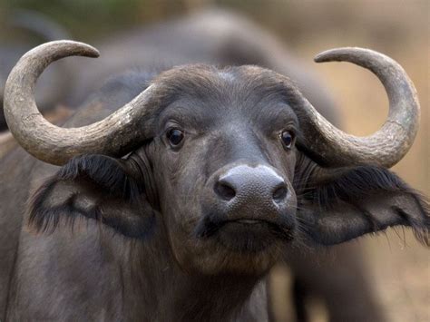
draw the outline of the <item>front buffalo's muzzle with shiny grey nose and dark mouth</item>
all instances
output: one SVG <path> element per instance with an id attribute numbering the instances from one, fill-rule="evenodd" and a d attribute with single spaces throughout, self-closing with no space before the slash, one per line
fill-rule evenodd
<path id="1" fill-rule="evenodd" d="M 290 239 L 296 200 L 288 181 L 269 165 L 239 161 L 227 168 L 206 184 L 198 236 L 210 238 L 220 230 L 220 244 L 238 252 L 265 250 L 277 237 Z"/>

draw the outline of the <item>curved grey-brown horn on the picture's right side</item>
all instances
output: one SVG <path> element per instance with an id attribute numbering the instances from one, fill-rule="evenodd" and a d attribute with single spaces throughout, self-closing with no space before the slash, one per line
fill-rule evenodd
<path id="1" fill-rule="evenodd" d="M 305 132 L 303 148 L 327 166 L 375 164 L 389 168 L 400 161 L 414 142 L 420 113 L 414 84 L 403 68 L 386 55 L 363 48 L 328 50 L 315 61 L 356 63 L 375 73 L 386 89 L 389 112 L 377 132 L 357 137 L 327 122 L 305 99 L 306 116 L 300 124 Z"/>

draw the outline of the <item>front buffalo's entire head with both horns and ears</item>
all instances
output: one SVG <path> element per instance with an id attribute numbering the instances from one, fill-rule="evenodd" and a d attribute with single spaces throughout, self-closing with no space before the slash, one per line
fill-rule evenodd
<path id="1" fill-rule="evenodd" d="M 186 271 L 267 271 L 288 247 L 336 244 L 406 225 L 428 243 L 425 201 L 388 170 L 415 138 L 419 104 L 383 54 L 344 48 L 317 60 L 370 69 L 386 87 L 388 119 L 366 138 L 339 131 L 287 77 L 256 66 L 186 65 L 156 76 L 101 122 L 58 128 L 34 103 L 52 61 L 96 56 L 54 42 L 24 55 L 5 91 L 15 138 L 63 168 L 34 194 L 30 224 L 92 218 L 132 239 L 168 240 Z M 142 240 L 142 242 L 145 242 Z"/>

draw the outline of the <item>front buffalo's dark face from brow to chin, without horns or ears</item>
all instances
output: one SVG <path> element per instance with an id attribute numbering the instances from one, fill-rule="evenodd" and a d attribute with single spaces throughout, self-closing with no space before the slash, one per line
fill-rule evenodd
<path id="1" fill-rule="evenodd" d="M 294 238 L 296 153 L 280 133 L 293 131 L 297 119 L 276 91 L 259 93 L 258 82 L 232 92 L 240 73 L 221 78 L 224 86 L 213 88 L 225 92 L 204 101 L 181 93 L 146 148 L 154 182 L 162 183 L 159 216 L 186 271 L 262 274 Z M 178 146 L 165 134 L 172 128 L 183 132 Z"/>

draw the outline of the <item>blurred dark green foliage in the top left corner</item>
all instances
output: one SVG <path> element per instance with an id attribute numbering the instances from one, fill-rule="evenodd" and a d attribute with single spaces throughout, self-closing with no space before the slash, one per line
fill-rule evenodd
<path id="1" fill-rule="evenodd" d="M 134 24 L 149 23 L 185 12 L 182 0 L 3 0 L 0 19 L 15 9 L 34 10 L 49 16 L 74 37 L 91 39 Z"/>

